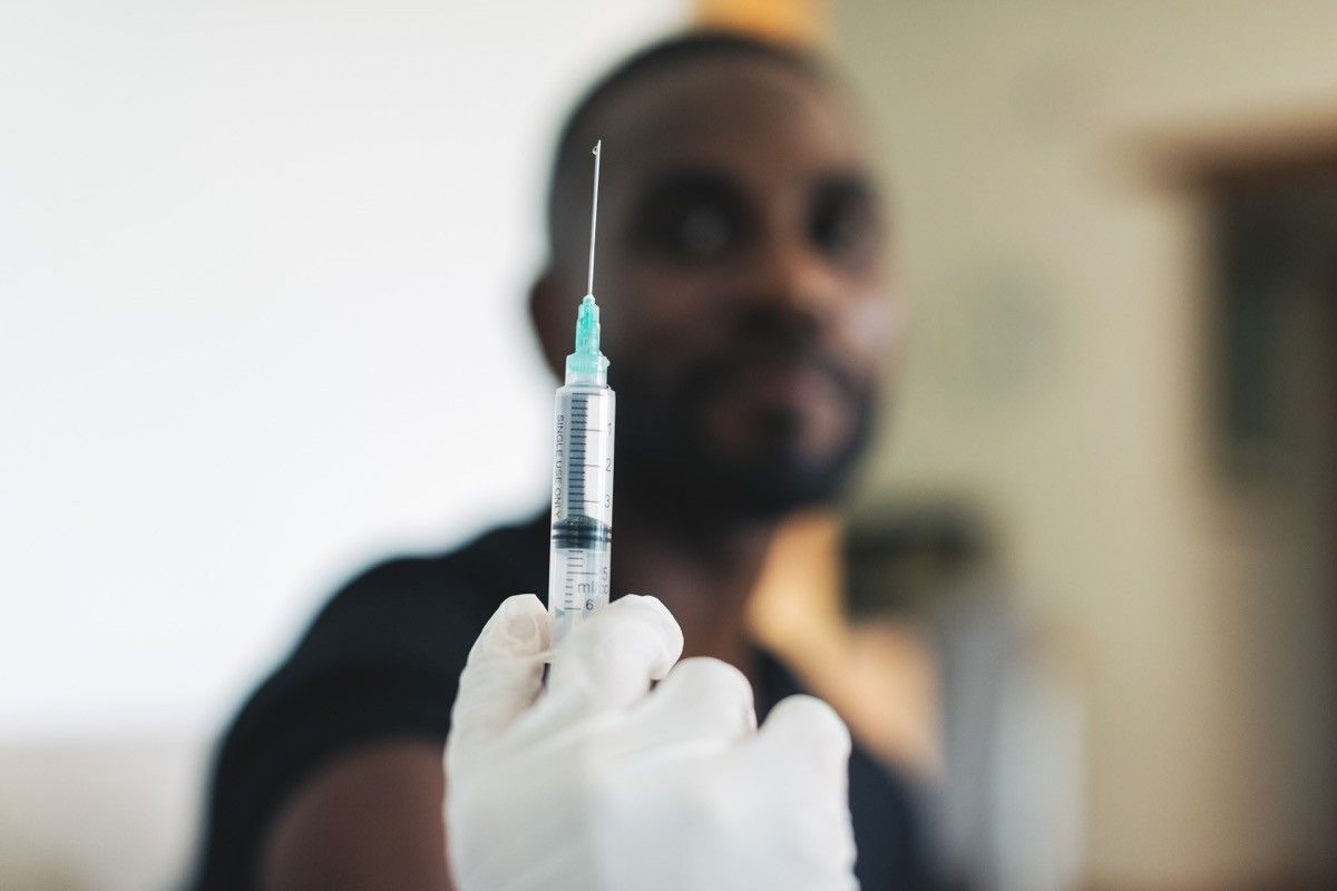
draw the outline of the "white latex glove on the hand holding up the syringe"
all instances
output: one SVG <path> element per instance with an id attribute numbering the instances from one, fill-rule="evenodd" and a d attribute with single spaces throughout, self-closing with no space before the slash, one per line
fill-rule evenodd
<path id="1" fill-rule="evenodd" d="M 539 598 L 511 597 L 460 676 L 445 751 L 460 891 L 858 887 L 830 707 L 792 696 L 758 732 L 739 671 L 674 668 L 682 632 L 654 597 L 582 622 L 541 691 L 548 645 Z"/>

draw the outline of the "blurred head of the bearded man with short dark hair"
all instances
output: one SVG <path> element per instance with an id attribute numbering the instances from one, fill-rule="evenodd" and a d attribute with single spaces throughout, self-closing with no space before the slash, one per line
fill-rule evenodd
<path id="1" fill-rule="evenodd" d="M 584 293 L 596 139 L 619 492 L 715 518 L 830 500 L 893 327 L 882 208 L 840 85 L 812 56 L 725 35 L 658 44 L 596 84 L 562 132 L 532 293 L 554 370 Z"/>

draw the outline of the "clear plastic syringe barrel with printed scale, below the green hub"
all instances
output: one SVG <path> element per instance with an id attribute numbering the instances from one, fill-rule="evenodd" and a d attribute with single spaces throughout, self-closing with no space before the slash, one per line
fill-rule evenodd
<path id="1" fill-rule="evenodd" d="M 608 602 L 614 415 L 607 386 L 567 385 L 556 393 L 548 609 L 559 639 Z"/>

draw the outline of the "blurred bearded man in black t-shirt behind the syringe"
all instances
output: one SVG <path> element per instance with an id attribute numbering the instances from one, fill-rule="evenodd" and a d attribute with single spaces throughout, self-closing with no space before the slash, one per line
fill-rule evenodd
<path id="1" fill-rule="evenodd" d="M 614 581 L 667 606 L 683 656 L 737 667 L 763 716 L 800 689 L 750 631 L 763 564 L 786 518 L 836 497 L 894 346 L 869 160 L 838 84 L 808 55 L 695 35 L 630 59 L 579 103 L 554 164 L 531 311 L 558 373 L 584 291 L 596 138 L 619 395 Z M 544 513 L 340 592 L 227 736 L 201 887 L 449 887 L 441 748 L 460 672 L 507 594 L 544 589 L 547 550 Z M 608 612 L 639 610 L 643 631 L 658 609 L 628 598 Z M 566 673 L 555 664 L 554 684 Z M 862 887 L 923 887 L 912 783 L 842 716 Z"/>

